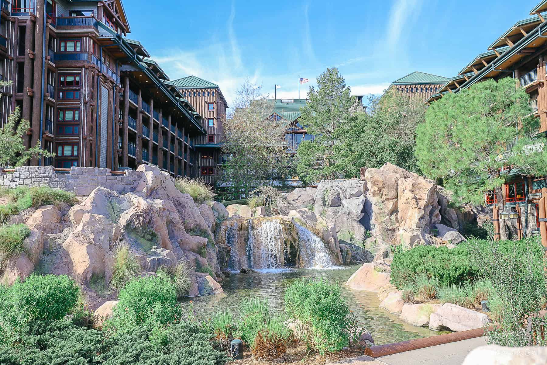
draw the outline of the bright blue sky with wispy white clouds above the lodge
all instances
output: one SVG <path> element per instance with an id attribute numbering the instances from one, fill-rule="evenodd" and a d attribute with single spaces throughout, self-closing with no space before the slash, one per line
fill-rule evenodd
<path id="1" fill-rule="evenodd" d="M 340 69 L 353 94 L 380 94 L 413 71 L 452 77 L 539 0 L 125 0 L 132 33 L 171 79 L 220 85 L 230 102 L 247 77 L 298 97 L 298 76 Z M 520 5 L 519 5 L 520 4 Z M 150 6 L 152 5 L 152 6 Z M 475 11 L 476 10 L 476 11 Z"/>

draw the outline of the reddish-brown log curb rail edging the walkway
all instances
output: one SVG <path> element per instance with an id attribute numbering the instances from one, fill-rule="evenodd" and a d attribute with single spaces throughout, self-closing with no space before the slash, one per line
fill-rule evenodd
<path id="1" fill-rule="evenodd" d="M 469 329 L 468 331 L 440 334 L 438 336 L 418 338 L 398 342 L 394 344 L 366 347 L 365 355 L 370 357 L 380 357 L 400 352 L 423 349 L 424 347 L 449 344 L 452 342 L 468 340 L 481 337 L 484 334 L 484 328 Z"/>

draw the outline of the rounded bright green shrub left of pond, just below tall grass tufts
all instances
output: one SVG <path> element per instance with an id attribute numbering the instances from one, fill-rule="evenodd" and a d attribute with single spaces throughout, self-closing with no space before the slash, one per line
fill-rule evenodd
<path id="1" fill-rule="evenodd" d="M 113 309 L 109 325 L 119 330 L 136 326 L 153 327 L 180 321 L 181 306 L 177 302 L 177 288 L 161 277 L 139 277 L 120 290 L 119 302 Z"/>

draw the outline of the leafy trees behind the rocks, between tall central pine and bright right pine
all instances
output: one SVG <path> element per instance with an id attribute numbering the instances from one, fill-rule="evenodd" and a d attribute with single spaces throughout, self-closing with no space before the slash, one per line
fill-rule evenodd
<path id="1" fill-rule="evenodd" d="M 356 121 L 347 128 L 347 165 L 353 176 L 360 166 L 379 169 L 391 163 L 421 175 L 417 166 L 416 126 L 423 122 L 427 106 L 419 99 L 386 91 L 381 98 L 369 97 L 366 113 L 357 113 Z"/>

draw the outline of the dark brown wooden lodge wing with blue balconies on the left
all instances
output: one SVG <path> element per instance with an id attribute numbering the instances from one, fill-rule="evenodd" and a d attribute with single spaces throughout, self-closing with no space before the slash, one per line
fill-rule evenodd
<path id="1" fill-rule="evenodd" d="M 125 38 L 121 0 L 0 2 L 0 77 L 13 82 L 0 125 L 20 107 L 31 123 L 25 144 L 56 154 L 31 165 L 199 169 L 193 141 L 207 129 L 147 50 Z"/>

